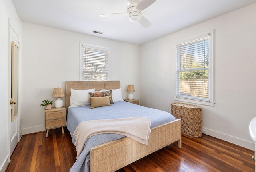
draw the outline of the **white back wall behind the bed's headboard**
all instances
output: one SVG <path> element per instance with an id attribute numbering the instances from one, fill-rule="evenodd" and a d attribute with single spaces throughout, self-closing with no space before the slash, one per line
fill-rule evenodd
<path id="1" fill-rule="evenodd" d="M 80 42 L 110 49 L 109 80 L 121 81 L 124 99 L 128 84 L 140 88 L 138 45 L 30 23 L 22 23 L 22 37 L 22 134 L 44 131 L 42 100 L 55 100 L 51 97 L 55 87 L 65 89 L 66 81 L 79 80 Z M 139 91 L 134 92 L 134 98 L 139 96 Z"/>

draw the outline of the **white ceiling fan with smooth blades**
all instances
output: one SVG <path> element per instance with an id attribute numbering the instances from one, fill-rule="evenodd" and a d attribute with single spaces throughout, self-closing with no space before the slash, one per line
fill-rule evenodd
<path id="1" fill-rule="evenodd" d="M 127 0 L 127 12 L 126 13 L 112 13 L 112 14 L 101 14 L 101 17 L 110 17 L 117 15 L 127 15 L 130 22 L 139 22 L 143 27 L 147 28 L 150 25 L 150 21 L 142 16 L 141 11 L 148 8 L 156 0 Z"/>

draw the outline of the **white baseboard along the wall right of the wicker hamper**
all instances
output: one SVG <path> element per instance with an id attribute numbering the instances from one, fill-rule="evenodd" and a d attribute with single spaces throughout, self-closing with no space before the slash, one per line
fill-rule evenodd
<path id="1" fill-rule="evenodd" d="M 219 133 L 217 131 L 207 129 L 207 128 L 202 128 L 202 129 L 206 130 L 206 135 L 210 135 L 212 137 L 216 137 L 218 139 L 228 141 L 230 143 L 236 144 L 241 147 L 245 147 L 245 148 L 253 150 L 253 151 L 255 149 L 255 143 L 253 141 L 245 141 L 245 140 L 242 140 L 242 139 L 230 136 L 230 135 L 226 135 L 224 133 Z"/>

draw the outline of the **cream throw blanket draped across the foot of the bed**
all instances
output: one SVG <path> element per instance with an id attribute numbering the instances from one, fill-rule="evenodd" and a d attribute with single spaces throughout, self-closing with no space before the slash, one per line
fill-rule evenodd
<path id="1" fill-rule="evenodd" d="M 151 121 L 147 117 L 83 121 L 76 127 L 74 132 L 76 158 L 80 156 L 88 138 L 97 134 L 120 134 L 148 145 L 148 138 L 151 132 L 150 125 Z"/>

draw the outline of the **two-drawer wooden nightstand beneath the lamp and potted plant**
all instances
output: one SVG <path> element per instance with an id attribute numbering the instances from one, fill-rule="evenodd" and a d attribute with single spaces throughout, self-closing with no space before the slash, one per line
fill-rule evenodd
<path id="1" fill-rule="evenodd" d="M 66 126 L 66 108 L 54 108 L 44 110 L 44 126 L 46 131 L 46 137 L 48 137 L 49 129 L 61 127 L 64 134 L 63 126 Z"/>

